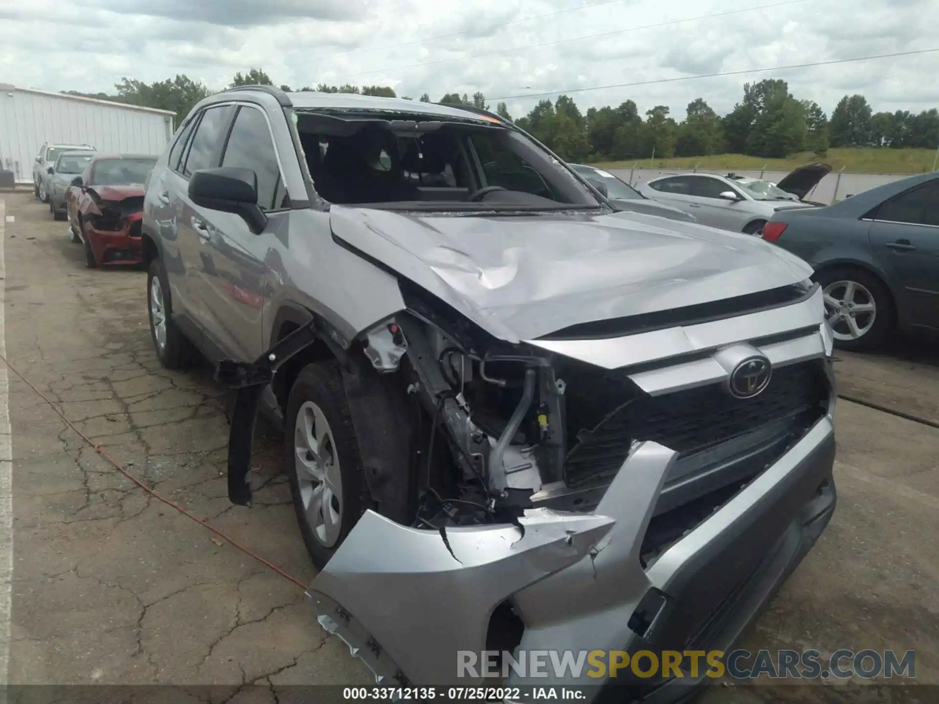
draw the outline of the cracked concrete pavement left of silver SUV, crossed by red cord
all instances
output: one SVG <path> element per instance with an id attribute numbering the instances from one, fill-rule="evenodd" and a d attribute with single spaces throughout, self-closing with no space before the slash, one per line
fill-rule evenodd
<path id="1" fill-rule="evenodd" d="M 264 433 L 254 508 L 229 503 L 224 391 L 162 370 L 146 274 L 87 270 L 68 225 L 5 197 L 6 343 L 16 368 L 131 473 L 304 582 L 314 571 Z M 10 374 L 16 684 L 372 680 L 302 589 L 115 471 Z M 256 700 L 253 697 L 253 700 Z"/>

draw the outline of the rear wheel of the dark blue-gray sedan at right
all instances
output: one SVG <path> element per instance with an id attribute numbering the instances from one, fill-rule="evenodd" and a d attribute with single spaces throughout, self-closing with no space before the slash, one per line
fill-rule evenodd
<path id="1" fill-rule="evenodd" d="M 893 328 L 893 299 L 885 284 L 862 268 L 833 268 L 817 277 L 825 319 L 841 349 L 879 347 Z"/>

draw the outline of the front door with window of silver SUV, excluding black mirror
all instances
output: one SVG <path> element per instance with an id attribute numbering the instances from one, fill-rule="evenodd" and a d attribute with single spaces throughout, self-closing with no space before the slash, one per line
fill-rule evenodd
<path id="1" fill-rule="evenodd" d="M 257 205 L 268 215 L 264 232 L 255 235 L 232 213 L 199 214 L 197 293 L 206 316 L 207 343 L 228 358 L 255 360 L 264 351 L 264 309 L 269 240 L 286 227 L 290 201 L 284 186 L 268 116 L 257 105 L 243 103 L 225 142 L 222 166 L 251 169 L 257 176 Z"/>

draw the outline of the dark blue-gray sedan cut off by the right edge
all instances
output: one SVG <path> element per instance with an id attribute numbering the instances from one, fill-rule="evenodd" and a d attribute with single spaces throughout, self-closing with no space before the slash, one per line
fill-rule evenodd
<path id="1" fill-rule="evenodd" d="M 870 349 L 894 328 L 939 329 L 939 172 L 777 212 L 762 237 L 815 269 L 839 347 Z"/>

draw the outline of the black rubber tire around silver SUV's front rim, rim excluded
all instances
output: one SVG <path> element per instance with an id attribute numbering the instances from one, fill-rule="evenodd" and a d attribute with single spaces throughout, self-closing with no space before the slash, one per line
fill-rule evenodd
<path id="1" fill-rule="evenodd" d="M 342 494 L 338 522 L 340 529 L 338 539 L 331 546 L 327 546 L 316 537 L 306 519 L 300 491 L 300 478 L 296 469 L 297 419 L 300 409 L 307 403 L 318 406 L 326 418 L 331 435 L 331 451 L 335 452 L 339 464 L 338 475 Z M 297 513 L 300 535 L 303 537 L 307 553 L 316 569 L 322 570 L 346 540 L 349 531 L 358 523 L 362 513 L 371 506 L 362 460 L 359 456 L 359 443 L 349 415 L 346 390 L 343 388 L 338 363 L 320 361 L 308 364 L 300 370 L 287 401 L 284 436 L 287 476 L 290 480 L 290 494 Z"/>

